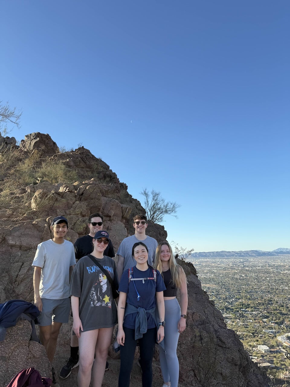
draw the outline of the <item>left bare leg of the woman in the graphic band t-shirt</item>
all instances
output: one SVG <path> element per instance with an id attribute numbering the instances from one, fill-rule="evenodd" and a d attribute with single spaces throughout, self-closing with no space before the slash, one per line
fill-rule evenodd
<path id="1" fill-rule="evenodd" d="M 81 332 L 80 338 L 78 339 L 80 364 L 77 382 L 79 387 L 89 387 L 90 385 L 98 332 L 99 329 Z"/>

